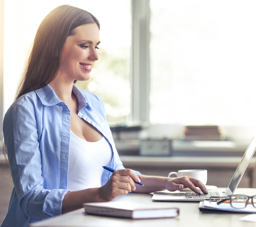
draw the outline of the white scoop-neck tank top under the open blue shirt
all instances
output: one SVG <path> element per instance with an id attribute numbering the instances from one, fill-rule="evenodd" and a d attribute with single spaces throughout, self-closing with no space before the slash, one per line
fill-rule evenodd
<path id="1" fill-rule="evenodd" d="M 67 189 L 71 191 L 101 187 L 103 165 L 109 165 L 112 149 L 105 137 L 88 142 L 70 130 Z"/>

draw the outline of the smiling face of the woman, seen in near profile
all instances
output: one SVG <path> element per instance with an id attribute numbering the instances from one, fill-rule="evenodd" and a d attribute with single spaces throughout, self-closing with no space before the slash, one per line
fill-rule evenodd
<path id="1" fill-rule="evenodd" d="M 99 59 L 99 28 L 97 24 L 83 24 L 74 31 L 65 42 L 58 75 L 67 81 L 85 81 L 90 78 L 92 64 Z"/>

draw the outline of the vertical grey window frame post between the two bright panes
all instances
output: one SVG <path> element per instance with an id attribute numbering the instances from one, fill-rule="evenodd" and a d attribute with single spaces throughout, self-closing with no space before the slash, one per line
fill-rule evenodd
<path id="1" fill-rule="evenodd" d="M 131 111 L 129 121 L 149 123 L 150 93 L 150 7 L 149 0 L 131 0 Z"/>

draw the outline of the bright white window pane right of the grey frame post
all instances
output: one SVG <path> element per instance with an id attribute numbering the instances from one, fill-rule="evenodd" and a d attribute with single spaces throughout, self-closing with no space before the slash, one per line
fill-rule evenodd
<path id="1" fill-rule="evenodd" d="M 256 125 L 255 9 L 150 0 L 150 123 Z"/>

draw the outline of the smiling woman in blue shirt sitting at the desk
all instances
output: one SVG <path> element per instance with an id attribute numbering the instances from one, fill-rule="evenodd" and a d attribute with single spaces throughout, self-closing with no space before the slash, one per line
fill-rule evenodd
<path id="1" fill-rule="evenodd" d="M 199 194 L 197 186 L 207 193 L 190 177 L 144 176 L 124 168 L 103 102 L 74 85 L 90 78 L 99 43 L 98 20 L 76 7 L 57 7 L 40 24 L 16 101 L 4 117 L 14 189 L 1 227 L 25 227 L 132 191 L 189 187 Z"/>

